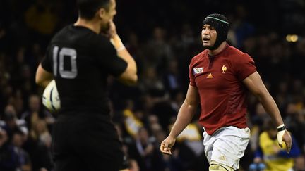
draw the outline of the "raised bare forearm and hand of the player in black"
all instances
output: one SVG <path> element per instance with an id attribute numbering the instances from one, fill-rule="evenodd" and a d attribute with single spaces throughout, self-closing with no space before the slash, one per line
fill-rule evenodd
<path id="1" fill-rule="evenodd" d="M 116 26 L 114 25 L 113 21 L 110 22 L 108 34 L 112 44 L 114 44 L 114 48 L 116 49 L 118 56 L 124 59 L 124 61 L 126 61 L 128 64 L 125 72 L 119 76 L 119 81 L 125 84 L 136 84 L 138 81 L 136 61 L 133 60 L 133 57 L 121 42 L 121 38 L 116 33 Z"/>

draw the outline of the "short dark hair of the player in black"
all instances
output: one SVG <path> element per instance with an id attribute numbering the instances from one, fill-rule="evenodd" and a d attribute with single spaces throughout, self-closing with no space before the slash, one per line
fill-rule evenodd
<path id="1" fill-rule="evenodd" d="M 80 18 L 91 20 L 100 8 L 109 9 L 110 0 L 77 0 Z"/>

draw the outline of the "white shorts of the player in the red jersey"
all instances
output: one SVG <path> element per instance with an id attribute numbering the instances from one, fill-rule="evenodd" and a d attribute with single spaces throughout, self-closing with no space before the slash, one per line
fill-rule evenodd
<path id="1" fill-rule="evenodd" d="M 239 169 L 239 160 L 244 156 L 249 139 L 249 128 L 222 127 L 213 135 L 203 132 L 205 156 L 209 163 L 213 160 L 237 170 Z"/>

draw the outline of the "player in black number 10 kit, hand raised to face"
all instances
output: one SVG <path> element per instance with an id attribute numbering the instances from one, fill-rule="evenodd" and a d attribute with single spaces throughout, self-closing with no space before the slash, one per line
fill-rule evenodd
<path id="1" fill-rule="evenodd" d="M 115 0 L 77 5 L 78 20 L 54 35 L 36 72 L 42 87 L 56 81 L 61 100 L 52 130 L 55 170 L 116 171 L 124 154 L 109 115 L 107 77 L 135 84 L 136 63 L 116 34 Z"/>

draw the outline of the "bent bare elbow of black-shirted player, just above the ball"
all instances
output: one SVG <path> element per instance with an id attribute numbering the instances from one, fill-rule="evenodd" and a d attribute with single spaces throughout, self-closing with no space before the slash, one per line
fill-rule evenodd
<path id="1" fill-rule="evenodd" d="M 40 64 L 36 71 L 35 82 L 36 84 L 40 85 L 41 87 L 47 87 L 47 84 L 53 80 L 53 74 L 51 72 L 47 72 L 42 68 Z"/>

